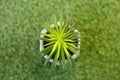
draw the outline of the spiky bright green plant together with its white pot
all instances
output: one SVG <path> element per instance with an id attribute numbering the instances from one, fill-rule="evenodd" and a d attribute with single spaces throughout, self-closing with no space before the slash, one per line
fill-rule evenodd
<path id="1" fill-rule="evenodd" d="M 56 65 L 65 68 L 80 53 L 80 32 L 63 23 L 47 25 L 40 37 L 40 52 L 46 59 L 45 64 L 51 62 L 52 68 Z"/>

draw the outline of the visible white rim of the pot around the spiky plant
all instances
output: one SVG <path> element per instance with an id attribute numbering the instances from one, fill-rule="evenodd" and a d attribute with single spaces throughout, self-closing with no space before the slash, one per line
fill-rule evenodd
<path id="1" fill-rule="evenodd" d="M 59 25 L 59 24 L 58 24 L 58 25 Z M 54 24 L 52 24 L 51 27 L 54 27 Z M 74 32 L 75 32 L 75 33 L 77 32 L 78 35 L 76 35 L 76 36 L 79 36 L 79 38 L 78 38 L 78 48 L 79 48 L 79 50 L 77 51 L 77 53 L 74 53 L 74 54 L 72 55 L 72 59 L 77 58 L 77 57 L 79 56 L 79 54 L 80 54 L 80 32 L 79 32 L 78 30 L 76 30 L 76 29 L 74 29 Z M 41 31 L 40 38 L 43 38 L 44 36 L 43 36 L 42 34 L 46 34 L 46 33 L 47 33 L 47 30 L 46 30 L 46 29 L 43 29 L 43 30 Z M 43 40 L 40 40 L 40 52 L 41 52 L 43 49 L 44 49 Z M 44 56 L 45 59 L 48 58 L 48 55 L 43 55 L 43 56 Z M 51 59 L 49 60 L 49 62 L 53 63 L 53 59 L 51 58 Z M 65 62 L 68 63 L 68 60 L 66 59 Z M 57 65 L 60 65 L 60 61 L 57 62 Z"/>

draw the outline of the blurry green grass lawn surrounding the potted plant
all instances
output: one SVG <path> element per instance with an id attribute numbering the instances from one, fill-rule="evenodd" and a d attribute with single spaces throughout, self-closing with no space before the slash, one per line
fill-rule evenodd
<path id="1" fill-rule="evenodd" d="M 81 32 L 72 66 L 44 66 L 44 24 L 63 20 Z M 119 80 L 120 0 L 0 0 L 0 80 Z"/>

